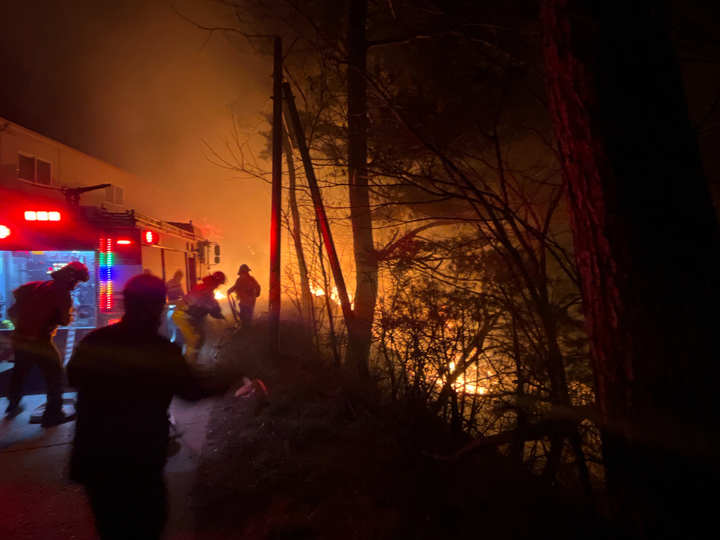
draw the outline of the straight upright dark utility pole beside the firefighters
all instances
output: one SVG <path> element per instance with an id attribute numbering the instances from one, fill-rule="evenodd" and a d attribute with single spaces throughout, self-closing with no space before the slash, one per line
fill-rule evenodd
<path id="1" fill-rule="evenodd" d="M 270 287 L 268 352 L 280 355 L 280 211 L 282 205 L 282 38 L 275 37 L 272 126 L 272 207 L 270 212 Z"/>

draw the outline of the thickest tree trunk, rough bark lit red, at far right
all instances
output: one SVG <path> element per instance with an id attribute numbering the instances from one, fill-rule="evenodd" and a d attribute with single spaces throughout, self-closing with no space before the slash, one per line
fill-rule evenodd
<path id="1" fill-rule="evenodd" d="M 636 537 L 717 537 L 720 231 L 662 2 L 544 0 L 611 498 Z"/>

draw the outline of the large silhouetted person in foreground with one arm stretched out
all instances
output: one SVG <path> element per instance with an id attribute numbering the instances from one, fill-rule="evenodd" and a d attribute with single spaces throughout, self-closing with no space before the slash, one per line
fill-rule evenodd
<path id="1" fill-rule="evenodd" d="M 78 393 L 70 478 L 84 486 L 102 540 L 157 540 L 167 521 L 170 401 L 230 385 L 200 379 L 158 334 L 167 294 L 160 278 L 135 276 L 123 294 L 121 321 L 88 334 L 67 365 Z"/>

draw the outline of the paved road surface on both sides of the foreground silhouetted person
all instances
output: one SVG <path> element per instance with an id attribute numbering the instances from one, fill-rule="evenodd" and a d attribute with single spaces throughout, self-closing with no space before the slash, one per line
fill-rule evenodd
<path id="1" fill-rule="evenodd" d="M 72 394 L 65 394 L 69 397 Z M 0 422 L 0 539 L 95 540 L 95 528 L 82 488 L 67 480 L 66 464 L 74 422 L 43 429 L 28 424 L 29 411 L 44 396 L 26 396 L 26 410 L 13 422 Z M 0 399 L 0 414 L 7 399 Z M 167 540 L 190 540 L 189 510 L 196 468 L 205 443 L 212 400 L 171 405 L 183 435 L 165 468 L 170 493 Z"/>

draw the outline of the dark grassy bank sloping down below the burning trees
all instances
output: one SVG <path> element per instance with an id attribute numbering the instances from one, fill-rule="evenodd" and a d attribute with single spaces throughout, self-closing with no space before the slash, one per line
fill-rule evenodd
<path id="1" fill-rule="evenodd" d="M 270 395 L 229 394 L 216 408 L 196 489 L 203 538 L 599 537 L 576 508 L 493 454 L 425 457 L 450 448 L 436 419 L 377 405 L 311 358 L 271 366 L 261 329 L 236 336 L 222 357 L 264 377 Z"/>

